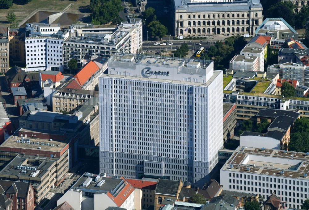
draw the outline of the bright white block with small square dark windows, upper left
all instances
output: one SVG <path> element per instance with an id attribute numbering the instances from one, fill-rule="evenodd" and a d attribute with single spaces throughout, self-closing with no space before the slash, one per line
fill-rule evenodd
<path id="1" fill-rule="evenodd" d="M 26 24 L 26 71 L 63 70 L 62 45 L 69 31 L 59 24 Z"/>

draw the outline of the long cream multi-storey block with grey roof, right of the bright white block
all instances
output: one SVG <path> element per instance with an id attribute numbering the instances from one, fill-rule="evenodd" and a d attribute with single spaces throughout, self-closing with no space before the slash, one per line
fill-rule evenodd
<path id="1" fill-rule="evenodd" d="M 111 57 L 115 52 L 138 53 L 142 49 L 141 19 L 123 22 L 112 33 L 92 27 L 93 29 L 87 28 L 86 31 L 77 30 L 76 36 L 68 37 L 64 41 L 65 66 L 72 58 L 80 63 L 85 56 Z"/>

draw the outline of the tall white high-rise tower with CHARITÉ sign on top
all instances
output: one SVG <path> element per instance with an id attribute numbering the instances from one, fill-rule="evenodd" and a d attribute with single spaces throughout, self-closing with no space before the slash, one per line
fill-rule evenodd
<path id="1" fill-rule="evenodd" d="M 115 53 L 107 73 L 100 172 L 208 182 L 223 146 L 222 71 L 211 61 Z"/>

